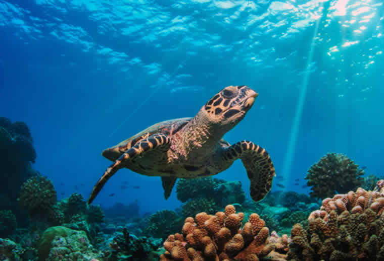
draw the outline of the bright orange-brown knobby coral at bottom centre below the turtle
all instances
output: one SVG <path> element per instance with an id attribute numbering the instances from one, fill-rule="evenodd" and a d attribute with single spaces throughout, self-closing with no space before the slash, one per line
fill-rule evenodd
<path id="1" fill-rule="evenodd" d="M 187 217 L 181 234 L 171 234 L 164 242 L 166 252 L 161 261 L 205 261 L 205 260 L 259 260 L 268 254 L 282 257 L 287 251 L 287 236 L 269 237 L 269 229 L 259 215 L 253 213 L 242 226 L 243 213 L 236 213 L 233 205 L 225 212 L 208 215 L 205 212 Z"/>

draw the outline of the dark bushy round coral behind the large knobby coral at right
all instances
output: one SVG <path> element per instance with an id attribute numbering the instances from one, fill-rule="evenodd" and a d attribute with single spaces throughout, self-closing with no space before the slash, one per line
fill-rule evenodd
<path id="1" fill-rule="evenodd" d="M 335 193 L 347 193 L 361 185 L 364 171 L 343 154 L 328 153 L 308 170 L 305 179 L 312 186 L 312 198 L 324 199 Z"/>

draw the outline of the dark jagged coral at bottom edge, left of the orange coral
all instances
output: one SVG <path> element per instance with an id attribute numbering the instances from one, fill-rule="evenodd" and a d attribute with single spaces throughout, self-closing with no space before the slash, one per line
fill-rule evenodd
<path id="1" fill-rule="evenodd" d="M 116 236 L 112 242 L 109 243 L 110 248 L 113 251 L 106 258 L 107 261 L 117 260 L 158 260 L 159 252 L 157 249 L 161 245 L 161 240 L 148 238 L 148 237 L 136 237 L 130 234 L 125 228 L 123 233 Z"/>

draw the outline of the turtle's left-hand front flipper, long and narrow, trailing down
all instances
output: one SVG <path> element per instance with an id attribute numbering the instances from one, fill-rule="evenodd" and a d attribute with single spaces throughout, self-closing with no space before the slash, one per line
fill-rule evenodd
<path id="1" fill-rule="evenodd" d="M 127 152 L 121 155 L 115 163 L 113 163 L 109 168 L 104 172 L 104 175 L 99 179 L 98 183 L 94 185 L 92 192 L 88 199 L 88 204 L 91 204 L 94 198 L 98 195 L 100 190 L 102 190 L 104 184 L 112 177 L 119 169 L 122 169 L 126 166 L 126 163 L 145 155 L 149 151 L 153 150 L 168 150 L 170 146 L 169 137 L 159 133 L 154 134 L 148 137 L 147 139 L 142 139 Z"/>

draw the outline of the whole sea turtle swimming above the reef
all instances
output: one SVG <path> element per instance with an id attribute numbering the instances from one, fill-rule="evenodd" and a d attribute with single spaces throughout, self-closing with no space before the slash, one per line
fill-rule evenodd
<path id="1" fill-rule="evenodd" d="M 216 175 L 241 159 L 251 181 L 250 193 L 260 201 L 271 189 L 275 169 L 268 153 L 250 141 L 230 145 L 222 137 L 241 121 L 258 94 L 248 86 L 228 86 L 213 96 L 193 118 L 159 122 L 103 151 L 114 163 L 93 187 L 90 204 L 107 180 L 122 168 L 161 176 L 168 199 L 177 178 Z"/>

